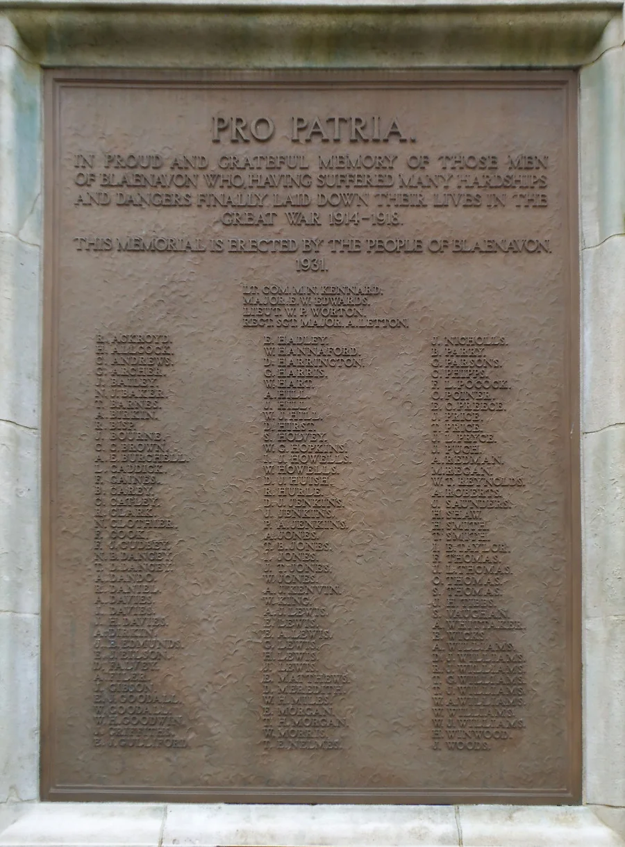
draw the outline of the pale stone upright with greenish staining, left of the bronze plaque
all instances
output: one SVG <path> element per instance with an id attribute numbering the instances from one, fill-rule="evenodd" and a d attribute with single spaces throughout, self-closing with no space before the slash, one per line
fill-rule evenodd
<path id="1" fill-rule="evenodd" d="M 41 86 L 0 17 L 0 803 L 39 795 Z"/>

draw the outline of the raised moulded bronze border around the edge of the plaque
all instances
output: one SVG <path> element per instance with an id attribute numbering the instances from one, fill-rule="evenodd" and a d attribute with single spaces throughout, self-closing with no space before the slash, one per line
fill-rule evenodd
<path id="1" fill-rule="evenodd" d="M 59 801 L 123 801 L 142 802 L 230 802 L 230 803 L 367 803 L 367 804 L 431 804 L 521 803 L 577 804 L 582 799 L 582 680 L 581 680 L 581 513 L 580 513 L 580 426 L 579 426 L 579 224 L 578 224 L 578 74 L 567 70 L 527 71 L 441 71 L 412 72 L 402 70 L 279 70 L 279 71 L 180 71 L 139 69 L 50 69 L 43 72 L 44 114 L 44 263 L 43 263 L 43 357 L 41 416 L 41 800 Z M 230 788 L 125 788 L 85 787 L 53 784 L 54 702 L 53 702 L 53 584 L 54 584 L 54 515 L 56 490 L 55 411 L 58 397 L 57 322 L 58 286 L 58 95 L 64 86 L 154 86 L 219 88 L 258 88 L 267 86 L 316 89 L 346 88 L 412 88 L 473 87 L 558 88 L 565 91 L 567 104 L 568 255 L 565 298 L 569 321 L 564 340 L 567 374 L 564 396 L 567 407 L 566 431 L 569 441 L 567 502 L 567 540 L 569 568 L 567 572 L 567 725 L 569 728 L 569 768 L 567 785 L 561 789 L 230 789 Z M 564 429 L 564 427 L 563 427 Z"/>

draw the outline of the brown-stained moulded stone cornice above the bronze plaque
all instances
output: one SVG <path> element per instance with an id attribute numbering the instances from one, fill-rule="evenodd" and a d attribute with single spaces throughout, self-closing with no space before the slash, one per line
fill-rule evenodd
<path id="1" fill-rule="evenodd" d="M 576 67 L 622 43 L 616 0 L 4 0 L 54 66 Z"/>

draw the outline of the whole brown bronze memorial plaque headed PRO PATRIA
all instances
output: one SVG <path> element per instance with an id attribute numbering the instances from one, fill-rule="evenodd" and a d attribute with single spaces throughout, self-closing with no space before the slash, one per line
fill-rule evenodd
<path id="1" fill-rule="evenodd" d="M 43 795 L 577 801 L 575 75 L 46 84 Z"/>

